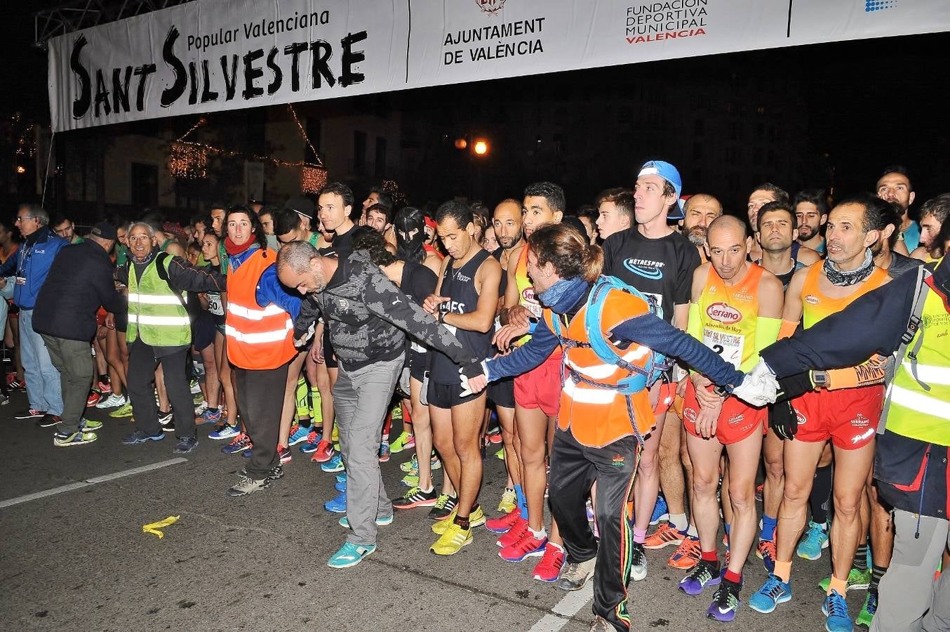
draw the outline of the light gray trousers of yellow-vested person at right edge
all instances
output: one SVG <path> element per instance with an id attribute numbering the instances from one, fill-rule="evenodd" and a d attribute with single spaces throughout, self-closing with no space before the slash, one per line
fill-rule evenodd
<path id="1" fill-rule="evenodd" d="M 894 556 L 881 579 L 878 612 L 870 632 L 950 631 L 950 568 L 934 573 L 947 546 L 946 520 L 894 509 Z"/>

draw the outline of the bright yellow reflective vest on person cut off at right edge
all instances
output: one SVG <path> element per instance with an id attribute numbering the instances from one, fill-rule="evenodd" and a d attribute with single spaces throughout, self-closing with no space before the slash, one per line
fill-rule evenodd
<path id="1" fill-rule="evenodd" d="M 886 430 L 950 446 L 950 314 L 933 290 L 927 291 L 921 327 L 907 350 L 890 386 Z"/>

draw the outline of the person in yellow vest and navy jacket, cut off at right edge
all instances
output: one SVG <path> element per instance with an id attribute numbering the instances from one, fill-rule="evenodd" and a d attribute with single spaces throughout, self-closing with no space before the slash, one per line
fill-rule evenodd
<path id="1" fill-rule="evenodd" d="M 894 553 L 879 590 L 872 586 L 864 603 L 871 632 L 950 629 L 950 573 L 944 569 L 934 582 L 950 531 L 948 297 L 950 266 L 928 263 L 771 345 L 752 372 L 778 375 L 780 396 L 794 397 L 814 385 L 835 388 L 839 372 L 826 369 L 897 352 L 874 459 L 878 496 L 893 508 Z M 874 371 L 859 379 L 868 377 L 879 380 Z M 797 424 L 789 424 L 783 431 L 793 435 Z"/>

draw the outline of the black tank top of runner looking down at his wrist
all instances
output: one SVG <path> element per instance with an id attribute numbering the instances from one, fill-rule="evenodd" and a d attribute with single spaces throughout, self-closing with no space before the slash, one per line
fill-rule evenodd
<path id="1" fill-rule="evenodd" d="M 468 314 L 478 308 L 475 273 L 478 272 L 485 259 L 490 256 L 488 251 L 483 249 L 469 259 L 461 269 L 455 269 L 451 264 L 446 266 L 446 274 L 442 278 L 442 289 L 439 291 L 439 295 L 451 300 L 442 303 L 439 306 L 440 310 L 452 314 Z M 487 334 L 482 334 L 456 329 L 451 325 L 447 325 L 447 327 L 448 331 L 452 332 L 475 357 L 481 360 L 488 356 L 493 335 L 491 330 Z M 429 372 L 429 379 L 438 384 L 456 384 L 459 381 L 459 365 L 448 359 L 445 354 L 432 354 L 432 368 Z"/>

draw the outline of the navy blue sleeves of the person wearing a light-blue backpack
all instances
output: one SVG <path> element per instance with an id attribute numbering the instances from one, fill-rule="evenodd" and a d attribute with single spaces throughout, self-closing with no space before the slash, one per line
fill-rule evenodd
<path id="1" fill-rule="evenodd" d="M 737 371 L 693 336 L 652 314 L 624 320 L 611 331 L 611 335 L 620 341 L 636 342 L 682 360 L 720 386 L 737 386 L 745 377 L 745 373 Z M 510 354 L 486 362 L 488 379 L 494 381 L 527 373 L 541 365 L 559 344 L 558 337 L 542 320 L 526 344 Z"/>

